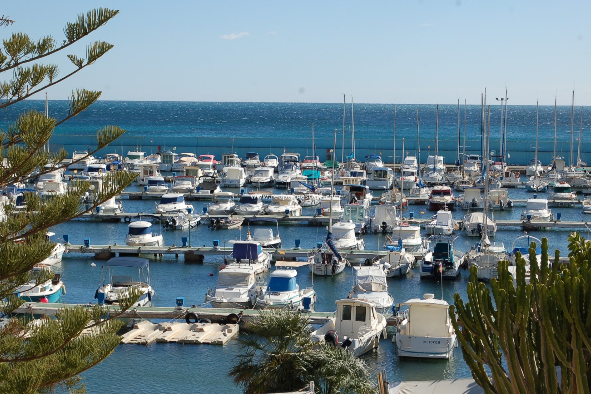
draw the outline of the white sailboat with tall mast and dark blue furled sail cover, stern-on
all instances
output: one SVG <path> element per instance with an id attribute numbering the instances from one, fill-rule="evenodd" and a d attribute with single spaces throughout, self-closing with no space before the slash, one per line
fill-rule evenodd
<path id="1" fill-rule="evenodd" d="M 336 149 L 336 129 L 335 129 L 335 142 L 332 151 L 332 157 L 335 157 Z M 335 162 L 333 161 L 332 178 L 330 181 L 330 196 L 335 194 Z M 340 199 L 339 199 L 340 203 Z M 343 272 L 345 265 L 349 265 L 349 261 L 346 256 L 342 256 L 335 246 L 335 238 L 332 235 L 332 216 L 333 210 L 329 213 L 329 231 L 326 235 L 326 240 L 323 245 L 314 252 L 313 255 L 308 257 L 308 263 L 310 271 L 314 275 L 332 276 L 337 273 Z"/>

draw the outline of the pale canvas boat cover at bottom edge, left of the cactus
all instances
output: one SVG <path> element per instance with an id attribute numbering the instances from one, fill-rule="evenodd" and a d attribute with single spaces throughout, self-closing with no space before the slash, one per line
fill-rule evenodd
<path id="1" fill-rule="evenodd" d="M 471 377 L 450 380 L 402 382 L 388 388 L 388 394 L 483 394 L 484 390 Z"/>

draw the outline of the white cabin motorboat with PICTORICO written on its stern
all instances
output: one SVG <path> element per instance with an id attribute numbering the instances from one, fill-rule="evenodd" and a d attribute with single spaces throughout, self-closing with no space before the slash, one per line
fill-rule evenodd
<path id="1" fill-rule="evenodd" d="M 449 316 L 449 304 L 424 294 L 423 299 L 413 298 L 396 304 L 397 310 L 408 307 L 399 314 L 396 343 L 399 357 L 425 359 L 449 359 L 456 347 L 456 332 Z M 412 320 L 411 320 L 412 319 Z"/>

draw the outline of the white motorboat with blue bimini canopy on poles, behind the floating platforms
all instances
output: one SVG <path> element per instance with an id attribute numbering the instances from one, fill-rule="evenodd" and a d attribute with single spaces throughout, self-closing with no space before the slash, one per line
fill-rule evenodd
<path id="1" fill-rule="evenodd" d="M 137 268 L 138 279 L 134 279 L 133 275 L 115 275 L 115 267 Z M 119 268 L 119 270 L 122 270 L 122 268 Z M 148 259 L 113 257 L 102 266 L 100 276 L 100 285 L 95 292 L 95 298 L 98 299 L 99 304 L 119 305 L 119 297 L 125 297 L 130 289 L 135 289 L 141 293 L 136 302 L 138 307 L 152 304 L 152 297 L 154 297 L 155 292 L 150 285 L 150 261 Z"/>

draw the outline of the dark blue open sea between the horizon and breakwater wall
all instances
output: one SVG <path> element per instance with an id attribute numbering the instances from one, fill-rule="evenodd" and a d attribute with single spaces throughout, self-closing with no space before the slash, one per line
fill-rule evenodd
<path id="1" fill-rule="evenodd" d="M 65 100 L 50 100 L 49 115 L 63 119 L 68 113 Z M 18 113 L 45 110 L 44 100 L 25 100 L 0 112 L 0 125 L 17 119 Z M 421 138 L 433 139 L 435 105 L 397 105 L 397 138 L 415 139 L 419 110 Z M 535 139 L 535 105 L 508 106 L 507 138 L 514 141 Z M 589 108 L 583 112 L 589 113 Z M 345 111 L 350 129 L 351 110 Z M 501 127 L 501 109 L 491 106 L 491 138 Z M 463 135 L 464 108 L 460 108 Z M 480 105 L 466 107 L 466 136 L 480 138 Z M 558 107 L 558 141 L 570 141 L 570 105 Z M 575 131 L 579 132 L 580 107 L 575 109 Z M 228 102 L 148 102 L 99 101 L 85 112 L 56 128 L 56 134 L 95 135 L 105 125 L 118 125 L 132 136 L 220 136 L 309 138 L 311 123 L 317 137 L 332 138 L 335 128 L 342 130 L 342 103 L 228 103 Z M 591 128 L 591 117 L 583 116 L 583 132 Z M 394 104 L 355 104 L 355 136 L 358 139 L 391 139 Z M 554 140 L 554 107 L 540 107 L 540 141 Z M 578 135 L 578 134 L 576 134 Z M 457 139 L 457 105 L 439 106 L 440 139 Z M 586 139 L 583 139 L 586 141 Z M 528 147 L 529 149 L 529 147 Z"/>

